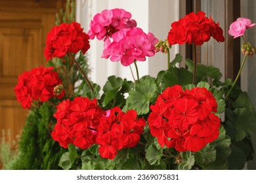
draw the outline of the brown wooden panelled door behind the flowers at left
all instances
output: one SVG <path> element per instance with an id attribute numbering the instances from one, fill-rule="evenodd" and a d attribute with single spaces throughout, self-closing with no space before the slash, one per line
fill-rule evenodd
<path id="1" fill-rule="evenodd" d="M 20 134 L 29 110 L 16 101 L 18 75 L 46 65 L 43 56 L 47 33 L 66 0 L 0 0 L 0 135 Z M 1 136 L 0 136 L 1 139 Z"/>

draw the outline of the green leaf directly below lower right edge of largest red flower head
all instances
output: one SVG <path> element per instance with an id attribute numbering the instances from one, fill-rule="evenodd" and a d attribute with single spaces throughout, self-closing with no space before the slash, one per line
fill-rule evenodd
<path id="1" fill-rule="evenodd" d="M 200 164 L 208 164 L 216 159 L 216 150 L 210 144 L 207 144 L 202 150 L 195 152 L 195 160 Z"/>

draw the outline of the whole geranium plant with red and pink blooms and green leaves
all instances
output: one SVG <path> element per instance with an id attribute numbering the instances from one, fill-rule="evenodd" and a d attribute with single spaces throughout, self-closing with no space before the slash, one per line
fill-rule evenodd
<path id="1" fill-rule="evenodd" d="M 243 37 L 254 25 L 238 18 L 228 32 Z M 173 22 L 166 35 L 159 41 L 153 33 L 144 33 L 131 13 L 119 8 L 96 14 L 88 34 L 75 22 L 49 32 L 47 61 L 56 57 L 76 65 L 86 81 L 83 90 L 65 88 L 53 67 L 25 72 L 14 90 L 24 108 L 33 101 L 56 107 L 51 134 L 68 148 L 60 159 L 63 169 L 242 169 L 253 157 L 250 137 L 256 133 L 256 112 L 236 82 L 255 47 L 244 38 L 236 80 L 221 82 L 218 68 L 196 64 L 195 58 L 186 59 L 187 69 L 175 66 L 182 61 L 180 54 L 169 60 L 173 44 L 192 44 L 195 51 L 211 37 L 224 41 L 223 29 L 211 16 L 191 12 Z M 77 52 L 87 52 L 89 39 L 95 37 L 104 42 L 102 58 L 124 67 L 134 64 L 137 80 L 110 76 L 100 95 L 100 86 L 75 59 Z M 156 52 L 167 53 L 167 70 L 157 78 L 140 78 L 137 61 Z"/>

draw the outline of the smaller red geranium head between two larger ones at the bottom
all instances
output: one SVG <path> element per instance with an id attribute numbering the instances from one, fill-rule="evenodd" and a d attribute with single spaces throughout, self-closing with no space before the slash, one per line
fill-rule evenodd
<path id="1" fill-rule="evenodd" d="M 103 158 L 114 159 L 117 150 L 132 148 L 140 141 L 146 122 L 137 119 L 136 110 L 122 112 L 119 107 L 112 108 L 106 116 L 100 118 L 96 143 L 100 144 L 98 151 Z"/>

